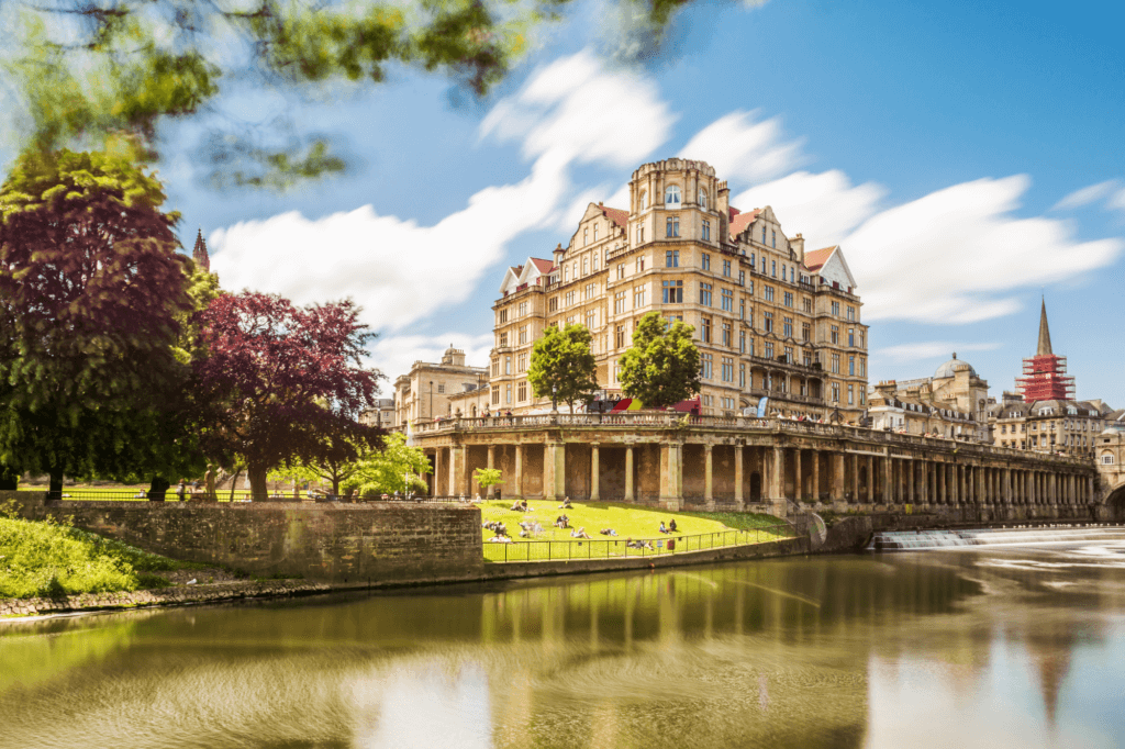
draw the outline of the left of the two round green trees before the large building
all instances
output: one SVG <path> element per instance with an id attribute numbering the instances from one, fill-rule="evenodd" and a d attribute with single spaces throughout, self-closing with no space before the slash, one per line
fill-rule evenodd
<path id="1" fill-rule="evenodd" d="M 531 350 L 528 381 L 537 398 L 550 398 L 570 406 L 597 389 L 592 336 L 585 325 L 550 326 Z M 557 388 L 557 390 L 556 390 Z"/>

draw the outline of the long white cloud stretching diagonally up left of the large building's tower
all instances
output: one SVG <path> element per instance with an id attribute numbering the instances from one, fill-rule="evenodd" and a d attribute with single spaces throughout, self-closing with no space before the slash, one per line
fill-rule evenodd
<path id="1" fill-rule="evenodd" d="M 513 238 L 555 218 L 573 197 L 572 164 L 631 165 L 667 138 L 672 121 L 650 82 L 578 53 L 532 75 L 482 123 L 483 137 L 522 139 L 534 159 L 524 180 L 477 192 L 434 226 L 380 216 L 371 206 L 238 223 L 209 237 L 213 267 L 227 288 L 299 304 L 350 296 L 372 327 L 402 330 L 467 299 Z"/>

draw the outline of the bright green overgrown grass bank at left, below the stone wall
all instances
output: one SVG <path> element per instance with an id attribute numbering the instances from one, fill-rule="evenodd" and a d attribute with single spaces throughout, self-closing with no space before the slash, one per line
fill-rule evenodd
<path id="1" fill-rule="evenodd" d="M 199 567 L 69 525 L 0 517 L 0 598 L 166 587 L 155 572 Z"/>

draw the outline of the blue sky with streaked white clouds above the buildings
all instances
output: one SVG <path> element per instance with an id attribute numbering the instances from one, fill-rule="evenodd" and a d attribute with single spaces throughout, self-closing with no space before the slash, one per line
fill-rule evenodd
<path id="1" fill-rule="evenodd" d="M 451 343 L 484 366 L 506 267 L 678 155 L 843 247 L 872 382 L 957 352 L 1011 390 L 1045 299 L 1078 397 L 1125 407 L 1122 6 L 708 1 L 655 52 L 615 8 L 579 0 L 483 99 L 407 70 L 317 101 L 232 89 L 224 117 L 289 117 L 348 154 L 287 193 L 208 187 L 205 123 L 165 126 L 186 250 L 201 228 L 227 289 L 354 298 L 390 380 Z"/>

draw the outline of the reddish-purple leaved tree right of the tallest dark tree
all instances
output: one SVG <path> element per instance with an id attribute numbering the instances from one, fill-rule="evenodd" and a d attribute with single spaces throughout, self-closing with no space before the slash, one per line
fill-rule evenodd
<path id="1" fill-rule="evenodd" d="M 351 301 L 296 307 L 277 295 L 219 295 L 198 316 L 207 352 L 194 362 L 205 452 L 246 463 L 254 499 L 268 472 L 339 450 L 348 460 L 377 431 L 359 423 L 378 370 L 362 357 L 375 337 Z"/>

